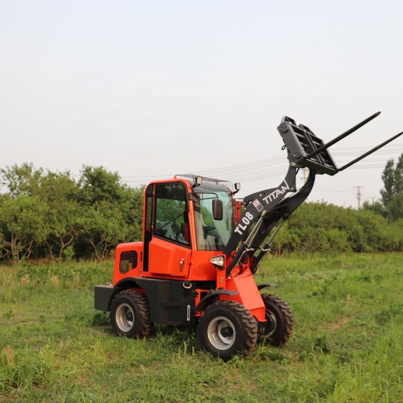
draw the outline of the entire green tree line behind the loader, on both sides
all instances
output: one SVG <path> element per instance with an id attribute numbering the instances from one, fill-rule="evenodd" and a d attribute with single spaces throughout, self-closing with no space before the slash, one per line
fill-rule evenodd
<path id="1" fill-rule="evenodd" d="M 275 237 L 272 253 L 403 250 L 403 154 L 382 174 L 381 200 L 361 210 L 303 203 Z M 83 166 L 51 172 L 24 163 L 0 169 L 0 259 L 97 259 L 121 242 L 140 241 L 144 186 L 117 172 Z"/>

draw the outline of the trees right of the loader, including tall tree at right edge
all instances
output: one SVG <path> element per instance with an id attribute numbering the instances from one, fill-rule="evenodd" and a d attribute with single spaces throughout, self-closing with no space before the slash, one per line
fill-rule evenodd
<path id="1" fill-rule="evenodd" d="M 381 199 L 353 210 L 304 203 L 283 226 L 272 249 L 287 252 L 403 250 L 403 154 L 382 173 Z"/>

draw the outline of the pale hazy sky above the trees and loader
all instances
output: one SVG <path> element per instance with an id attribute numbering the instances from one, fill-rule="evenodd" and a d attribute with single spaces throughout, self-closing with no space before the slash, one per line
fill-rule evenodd
<path id="1" fill-rule="evenodd" d="M 0 0 L 0 168 L 83 165 L 130 186 L 181 173 L 277 187 L 283 116 L 339 166 L 403 130 L 403 2 Z M 308 200 L 380 197 L 403 136 Z M 297 185 L 303 184 L 302 172 Z"/>

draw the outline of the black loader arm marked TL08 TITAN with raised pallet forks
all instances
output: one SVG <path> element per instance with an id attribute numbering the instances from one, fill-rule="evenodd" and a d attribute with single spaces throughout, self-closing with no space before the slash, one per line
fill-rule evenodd
<path id="1" fill-rule="evenodd" d="M 374 119 L 379 114 L 380 112 L 374 113 L 328 143 L 324 143 L 321 139 L 316 137 L 309 127 L 304 126 L 303 124 L 297 126 L 295 121 L 290 117 L 283 117 L 278 126 L 278 131 L 283 138 L 285 144 L 284 147 L 287 148 L 288 160 L 290 161 L 287 175 L 277 188 L 252 193 L 244 198 L 245 209 L 235 227 L 234 233 L 224 248 L 224 254 L 227 257 L 230 255 L 233 256 L 232 261 L 226 270 L 227 277 L 231 276 L 234 267 L 242 258 L 244 258 L 245 255 L 250 258 L 252 268 L 254 268 L 254 271 L 256 270 L 261 259 L 269 250 L 270 243 L 280 226 L 308 197 L 313 188 L 316 174 L 327 174 L 333 176 L 369 156 L 403 134 L 403 131 L 397 133 L 397 135 L 367 151 L 360 157 L 347 163 L 341 168 L 338 168 L 327 149 L 351 135 L 351 133 Z M 305 184 L 296 191 L 295 178 L 298 169 L 305 167 L 309 169 L 308 179 Z M 284 198 L 288 192 L 294 192 L 294 194 Z M 252 228 L 253 224 L 255 225 Z M 276 229 L 272 233 L 270 239 L 261 246 L 266 237 L 275 227 Z M 251 228 L 252 230 L 249 232 Z M 240 242 L 241 244 L 237 248 Z M 236 250 L 235 253 L 233 253 L 234 250 Z M 258 251 L 257 255 L 255 255 L 256 251 Z"/>

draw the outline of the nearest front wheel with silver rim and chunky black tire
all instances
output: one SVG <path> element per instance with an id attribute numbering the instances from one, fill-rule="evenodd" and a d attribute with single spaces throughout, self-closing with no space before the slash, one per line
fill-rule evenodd
<path id="1" fill-rule="evenodd" d="M 256 346 L 257 323 L 250 312 L 235 301 L 223 300 L 209 305 L 201 315 L 197 335 L 201 347 L 224 361 Z"/>

